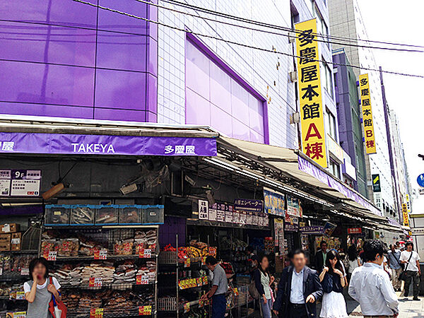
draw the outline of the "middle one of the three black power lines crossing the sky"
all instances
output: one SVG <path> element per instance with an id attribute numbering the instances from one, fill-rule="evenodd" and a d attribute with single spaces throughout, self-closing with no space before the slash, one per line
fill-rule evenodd
<path id="1" fill-rule="evenodd" d="M 225 25 L 232 25 L 232 26 L 235 26 L 237 28 L 243 28 L 243 29 L 246 29 L 246 30 L 259 31 L 259 32 L 262 32 L 262 33 L 273 34 L 273 35 L 281 35 L 281 36 L 285 36 L 285 37 L 288 37 L 288 38 L 290 38 L 290 37 L 299 38 L 298 36 L 296 36 L 294 34 L 293 35 L 290 35 L 288 33 L 278 33 L 278 32 L 275 32 L 275 31 L 261 30 L 261 29 L 258 29 L 258 28 L 248 27 L 246 25 L 239 25 L 239 24 L 235 24 L 235 23 L 220 21 L 220 20 L 216 20 L 216 19 L 213 19 L 213 18 L 199 16 L 198 14 L 193 14 L 193 13 L 187 13 L 187 12 L 184 12 L 184 11 L 179 11 L 179 10 L 177 10 L 175 8 L 168 8 L 166 6 L 160 6 L 159 4 L 153 4 L 152 2 L 149 2 L 149 1 L 143 1 L 143 0 L 135 0 L 135 1 L 141 2 L 142 4 L 148 4 L 149 6 L 155 6 L 157 8 L 163 8 L 163 9 L 165 9 L 167 11 L 181 13 L 181 14 L 184 14 L 185 16 L 192 16 L 194 18 L 200 18 L 202 20 L 209 20 L 209 21 L 212 21 L 212 22 L 222 23 L 222 24 L 225 24 Z M 163 0 L 163 1 L 166 1 L 166 0 Z M 265 26 L 265 27 L 268 28 L 267 26 Z M 281 27 L 281 28 L 283 28 L 283 27 Z M 288 30 L 289 30 L 290 33 L 300 33 L 300 31 L 295 31 L 295 30 L 291 30 L 291 29 L 288 29 Z M 314 34 L 314 33 L 311 33 L 311 34 Z M 322 40 L 319 40 L 319 37 L 322 37 Z M 344 46 L 348 46 L 348 47 L 363 47 L 363 48 L 368 48 L 368 49 L 386 49 L 386 50 L 398 51 L 398 52 L 424 53 L 424 50 L 421 50 L 421 49 L 396 49 L 394 47 L 371 47 L 371 46 L 366 46 L 366 45 L 349 44 L 349 43 L 341 43 L 341 42 L 332 42 L 332 41 L 326 40 L 326 37 L 329 37 L 329 36 L 317 34 L 317 37 L 314 39 L 314 41 L 323 42 L 323 43 L 326 43 L 326 44 L 327 43 L 331 43 L 331 44 L 334 44 L 334 45 L 344 45 Z"/>

